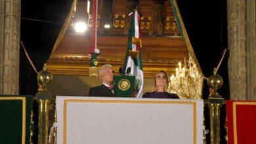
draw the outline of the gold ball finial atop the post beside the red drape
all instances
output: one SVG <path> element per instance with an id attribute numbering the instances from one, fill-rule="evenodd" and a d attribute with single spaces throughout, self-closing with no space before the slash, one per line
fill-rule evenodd
<path id="1" fill-rule="evenodd" d="M 210 87 L 210 98 L 222 98 L 220 94 L 218 94 L 218 89 L 223 86 L 223 78 L 220 75 L 211 75 L 208 79 L 208 85 Z"/>

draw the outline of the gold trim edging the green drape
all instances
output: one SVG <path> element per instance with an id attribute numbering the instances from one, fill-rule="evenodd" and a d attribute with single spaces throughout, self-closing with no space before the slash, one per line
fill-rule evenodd
<path id="1" fill-rule="evenodd" d="M 0 97 L 0 100 L 22 100 L 22 144 L 26 142 L 26 98 L 25 97 Z"/>

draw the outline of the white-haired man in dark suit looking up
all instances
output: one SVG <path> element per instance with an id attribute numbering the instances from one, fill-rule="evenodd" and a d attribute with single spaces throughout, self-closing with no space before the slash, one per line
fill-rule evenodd
<path id="1" fill-rule="evenodd" d="M 114 69 L 112 65 L 106 64 L 98 69 L 98 77 L 102 84 L 90 88 L 89 96 L 115 97 L 114 88 L 112 86 Z"/>

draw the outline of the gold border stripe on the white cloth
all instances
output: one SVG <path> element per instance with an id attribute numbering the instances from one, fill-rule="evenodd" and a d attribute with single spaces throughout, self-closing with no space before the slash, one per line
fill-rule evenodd
<path id="1" fill-rule="evenodd" d="M 193 106 L 193 144 L 196 144 L 196 102 L 195 101 L 152 101 L 152 100 L 104 100 L 104 99 L 64 99 L 63 106 L 63 143 L 66 144 L 67 136 L 67 105 L 68 103 L 158 103 L 158 104 L 181 104 Z"/>

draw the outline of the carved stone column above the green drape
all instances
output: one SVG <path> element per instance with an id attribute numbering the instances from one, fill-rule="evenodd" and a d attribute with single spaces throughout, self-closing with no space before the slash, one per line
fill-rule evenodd
<path id="1" fill-rule="evenodd" d="M 0 94 L 18 94 L 20 0 L 0 0 L 0 14 Z"/>

